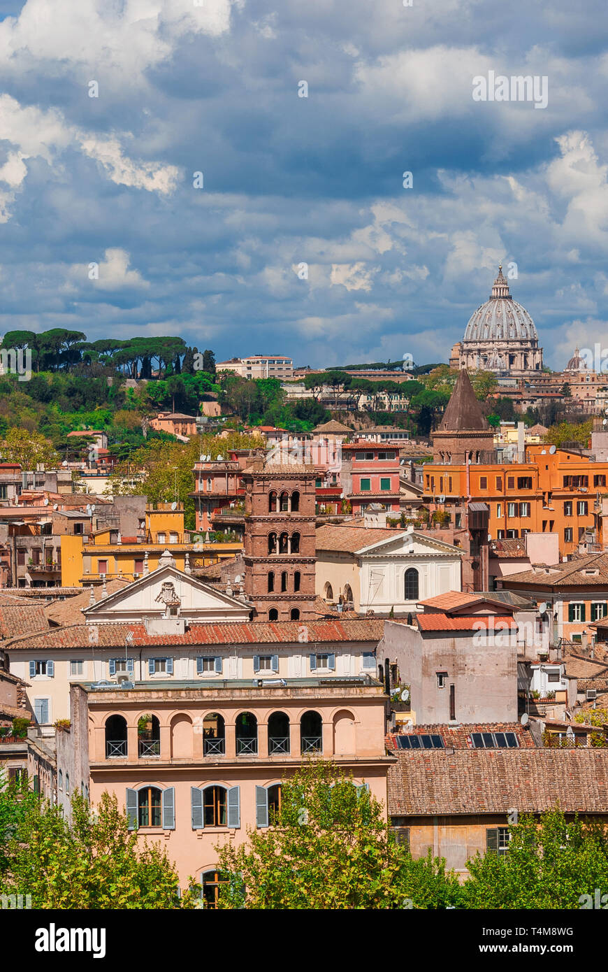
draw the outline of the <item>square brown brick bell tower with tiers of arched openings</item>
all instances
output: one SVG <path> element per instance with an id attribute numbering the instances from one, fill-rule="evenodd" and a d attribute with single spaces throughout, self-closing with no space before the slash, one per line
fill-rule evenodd
<path id="1" fill-rule="evenodd" d="M 311 620 L 317 616 L 315 468 L 258 460 L 243 481 L 245 595 L 255 620 Z"/>

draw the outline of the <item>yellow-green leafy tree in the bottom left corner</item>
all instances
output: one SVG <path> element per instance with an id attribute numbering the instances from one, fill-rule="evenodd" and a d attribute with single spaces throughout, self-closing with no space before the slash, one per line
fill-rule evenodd
<path id="1" fill-rule="evenodd" d="M 31 894 L 33 908 L 179 909 L 178 875 L 166 851 L 138 841 L 116 796 L 103 793 L 92 814 L 77 795 L 72 823 L 36 797 L 14 812 L 4 845 L 4 894 Z"/>

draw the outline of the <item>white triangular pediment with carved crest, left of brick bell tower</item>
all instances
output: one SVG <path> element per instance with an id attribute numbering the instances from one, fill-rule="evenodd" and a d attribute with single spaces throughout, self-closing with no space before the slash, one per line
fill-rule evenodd
<path id="1" fill-rule="evenodd" d="M 251 607 L 174 566 L 159 567 L 84 609 L 87 623 L 143 622 L 177 612 L 186 621 L 248 621 Z"/>

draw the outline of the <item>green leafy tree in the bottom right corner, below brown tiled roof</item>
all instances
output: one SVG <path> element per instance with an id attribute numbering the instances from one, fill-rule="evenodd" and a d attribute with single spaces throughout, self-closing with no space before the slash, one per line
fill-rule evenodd
<path id="1" fill-rule="evenodd" d="M 466 908 L 579 909 L 581 896 L 608 890 L 608 830 L 604 823 L 559 810 L 521 816 L 509 827 L 506 853 L 467 861 L 462 888 Z"/>

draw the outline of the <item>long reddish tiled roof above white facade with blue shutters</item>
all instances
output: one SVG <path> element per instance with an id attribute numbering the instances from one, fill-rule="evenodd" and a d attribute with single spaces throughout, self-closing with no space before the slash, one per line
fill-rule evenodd
<path id="1" fill-rule="evenodd" d="M 53 628 L 45 634 L 24 635 L 3 644 L 7 650 L 32 648 L 77 648 L 89 645 L 91 625 L 74 624 Z M 184 635 L 148 635 L 143 624 L 99 624 L 98 641 L 101 647 L 124 648 L 124 636 L 133 632 L 134 643 L 140 645 L 175 644 L 293 644 L 300 642 L 302 628 L 308 629 L 308 643 L 315 642 L 380 642 L 384 621 L 373 618 L 330 618 L 317 621 L 253 621 L 192 624 Z M 299 636 L 299 637 L 298 637 Z M 304 648 L 303 650 L 308 650 Z"/>

